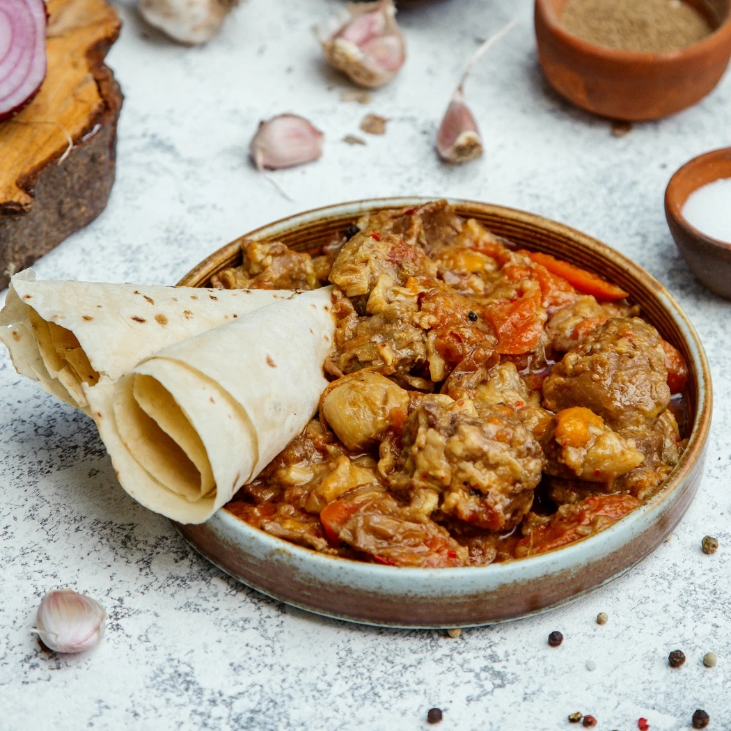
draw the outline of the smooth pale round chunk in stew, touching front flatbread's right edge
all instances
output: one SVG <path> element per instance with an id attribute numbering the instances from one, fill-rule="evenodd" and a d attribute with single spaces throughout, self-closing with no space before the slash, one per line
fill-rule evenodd
<path id="1" fill-rule="evenodd" d="M 394 423 L 403 423 L 409 392 L 377 373 L 357 372 L 333 383 L 320 411 L 349 450 L 366 450 L 381 442 Z"/>

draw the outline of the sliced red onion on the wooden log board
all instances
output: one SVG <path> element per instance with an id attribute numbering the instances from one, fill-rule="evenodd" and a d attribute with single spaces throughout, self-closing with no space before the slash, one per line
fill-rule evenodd
<path id="1" fill-rule="evenodd" d="M 0 121 L 38 94 L 46 73 L 43 0 L 0 0 Z"/>

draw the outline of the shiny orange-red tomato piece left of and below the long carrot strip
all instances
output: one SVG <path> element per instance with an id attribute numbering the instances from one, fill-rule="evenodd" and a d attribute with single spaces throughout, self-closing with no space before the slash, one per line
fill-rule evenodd
<path id="1" fill-rule="evenodd" d="M 538 347 L 546 314 L 539 295 L 532 295 L 491 303 L 485 308 L 485 319 L 498 338 L 497 352 L 521 355 Z"/>

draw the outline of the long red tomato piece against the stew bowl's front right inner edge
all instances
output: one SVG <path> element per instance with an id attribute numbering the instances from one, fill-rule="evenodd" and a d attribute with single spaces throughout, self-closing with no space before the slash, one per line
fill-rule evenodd
<path id="1" fill-rule="evenodd" d="M 556 513 L 548 523 L 518 541 L 516 556 L 536 556 L 586 538 L 584 532 L 577 529 L 591 526 L 594 518 L 601 516 L 615 523 L 639 505 L 640 501 L 632 495 L 595 495 L 576 505 L 565 506 L 569 509 L 567 515 Z"/>

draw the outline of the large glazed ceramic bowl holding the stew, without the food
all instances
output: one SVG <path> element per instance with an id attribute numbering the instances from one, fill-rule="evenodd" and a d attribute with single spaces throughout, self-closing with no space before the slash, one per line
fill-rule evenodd
<path id="1" fill-rule="evenodd" d="M 366 200 L 300 213 L 224 246 L 179 284 L 210 286 L 213 274 L 240 264 L 243 238 L 279 240 L 315 253 L 363 212 L 415 208 L 428 200 Z M 577 599 L 648 556 L 697 491 L 711 424 L 711 374 L 693 326 L 667 290 L 622 254 L 563 224 L 486 203 L 450 202 L 459 215 L 497 235 L 602 273 L 629 292 L 689 366 L 692 431 L 681 461 L 658 492 L 608 529 L 549 553 L 486 567 L 409 569 L 349 561 L 285 542 L 225 508 L 202 525 L 173 523 L 205 558 L 263 594 L 325 616 L 397 627 L 474 626 L 528 616 Z"/>

